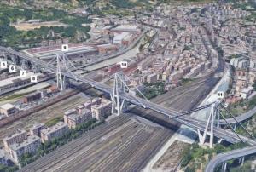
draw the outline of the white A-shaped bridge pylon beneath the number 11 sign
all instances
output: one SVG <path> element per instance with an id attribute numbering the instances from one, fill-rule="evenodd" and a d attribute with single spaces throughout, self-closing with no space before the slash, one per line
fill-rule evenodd
<path id="1" fill-rule="evenodd" d="M 211 113 L 210 113 L 210 115 L 209 115 L 209 117 L 207 119 L 207 126 L 206 126 L 204 132 L 201 134 L 201 131 L 199 129 L 197 130 L 198 137 L 199 137 L 199 143 L 201 145 L 203 145 L 206 142 L 207 135 L 210 136 L 209 146 L 211 148 L 213 147 L 213 139 L 214 139 L 213 131 L 214 131 L 214 127 L 219 128 L 218 103 L 219 102 L 215 102 L 211 106 Z"/>

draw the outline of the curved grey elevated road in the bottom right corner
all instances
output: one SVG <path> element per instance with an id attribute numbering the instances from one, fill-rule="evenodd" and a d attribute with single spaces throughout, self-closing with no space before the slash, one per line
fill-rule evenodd
<path id="1" fill-rule="evenodd" d="M 234 151 L 220 153 L 216 157 L 212 158 L 209 163 L 207 163 L 205 172 L 214 172 L 214 169 L 219 163 L 224 163 L 230 159 L 241 158 L 254 153 L 256 153 L 256 146 L 249 146 L 243 149 L 236 149 Z"/>

